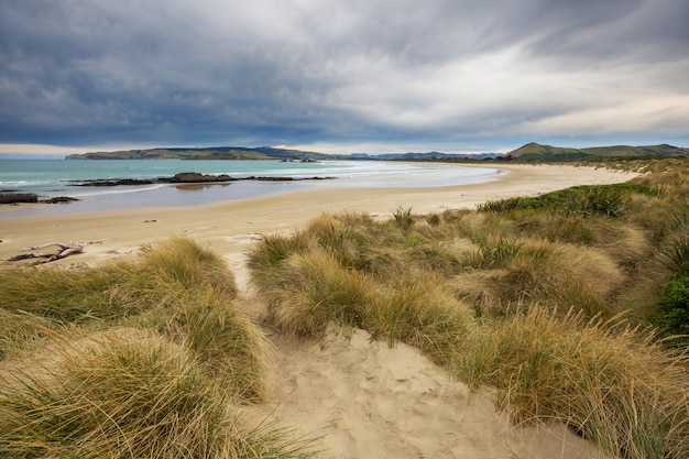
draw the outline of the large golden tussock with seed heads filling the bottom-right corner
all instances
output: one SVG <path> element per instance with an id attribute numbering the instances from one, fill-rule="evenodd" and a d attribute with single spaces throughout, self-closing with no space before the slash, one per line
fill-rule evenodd
<path id="1" fill-rule="evenodd" d="M 622 458 L 689 453 L 687 358 L 653 331 L 532 308 L 472 337 L 460 378 L 497 387 L 517 422 L 562 420 Z"/>

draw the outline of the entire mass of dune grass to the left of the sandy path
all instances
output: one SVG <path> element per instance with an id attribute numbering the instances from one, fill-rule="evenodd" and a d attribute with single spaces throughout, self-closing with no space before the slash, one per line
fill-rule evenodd
<path id="1" fill-rule="evenodd" d="M 0 458 L 313 457 L 242 415 L 270 348 L 236 296 L 225 261 L 186 238 L 133 262 L 0 271 Z"/>

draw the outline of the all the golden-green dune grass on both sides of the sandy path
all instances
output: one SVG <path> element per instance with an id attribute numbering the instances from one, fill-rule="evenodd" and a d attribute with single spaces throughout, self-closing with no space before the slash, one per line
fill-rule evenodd
<path id="1" fill-rule="evenodd" d="M 515 423 L 686 458 L 689 165 L 624 166 L 642 175 L 472 210 L 322 214 L 263 236 L 251 282 L 271 329 L 365 329 L 490 389 Z M 2 269 L 0 458 L 315 457 L 243 409 L 270 353 L 223 259 L 187 238 L 133 262 Z"/>

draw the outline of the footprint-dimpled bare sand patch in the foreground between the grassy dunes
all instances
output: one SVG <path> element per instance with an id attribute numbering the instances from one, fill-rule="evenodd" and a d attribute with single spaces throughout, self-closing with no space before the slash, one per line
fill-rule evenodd
<path id="1" fill-rule="evenodd" d="M 489 396 L 405 345 L 390 348 L 335 327 L 319 342 L 272 340 L 275 378 L 255 414 L 319 436 L 326 458 L 605 457 L 562 425 L 511 425 Z"/>

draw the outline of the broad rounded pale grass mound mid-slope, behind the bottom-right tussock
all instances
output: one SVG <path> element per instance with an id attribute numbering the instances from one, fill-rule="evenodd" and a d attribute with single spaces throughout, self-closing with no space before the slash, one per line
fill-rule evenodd
<path id="1" fill-rule="evenodd" d="M 589 316 L 610 313 L 605 302 L 624 281 L 620 266 L 600 251 L 534 239 L 481 245 L 467 255 L 466 264 L 475 271 L 459 274 L 450 284 L 482 314 L 524 303 L 577 307 Z"/>

